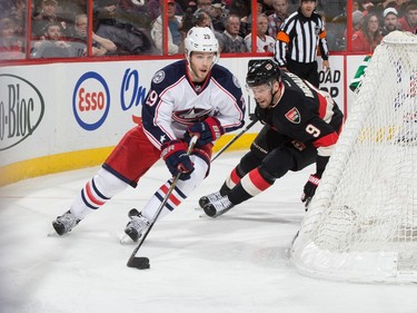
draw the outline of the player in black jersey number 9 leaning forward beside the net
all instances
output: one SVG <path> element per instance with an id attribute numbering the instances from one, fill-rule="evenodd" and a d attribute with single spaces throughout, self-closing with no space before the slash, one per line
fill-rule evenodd
<path id="1" fill-rule="evenodd" d="M 341 129 L 342 113 L 331 97 L 271 60 L 257 60 L 246 82 L 256 100 L 256 116 L 265 125 L 219 192 L 199 205 L 217 217 L 267 189 L 288 170 L 316 163 L 301 200 L 314 196 Z"/>

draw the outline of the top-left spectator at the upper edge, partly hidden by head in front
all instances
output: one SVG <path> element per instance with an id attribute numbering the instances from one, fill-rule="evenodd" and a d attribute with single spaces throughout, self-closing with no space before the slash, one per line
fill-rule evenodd
<path id="1" fill-rule="evenodd" d="M 44 39 L 47 27 L 51 22 L 59 23 L 63 36 L 72 35 L 73 20 L 63 19 L 57 16 L 58 2 L 57 0 L 42 0 L 41 10 L 32 20 L 32 36 L 36 39 Z"/>

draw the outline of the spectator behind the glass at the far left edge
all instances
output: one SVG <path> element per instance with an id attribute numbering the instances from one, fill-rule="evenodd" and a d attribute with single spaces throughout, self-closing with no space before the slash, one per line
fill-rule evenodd
<path id="1" fill-rule="evenodd" d="M 23 42 L 10 18 L 0 19 L 0 60 L 23 59 Z"/>

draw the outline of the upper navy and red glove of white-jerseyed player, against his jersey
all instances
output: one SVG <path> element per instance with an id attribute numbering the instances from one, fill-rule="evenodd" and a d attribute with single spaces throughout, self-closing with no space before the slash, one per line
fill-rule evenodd
<path id="1" fill-rule="evenodd" d="M 220 121 L 216 117 L 208 117 L 203 121 L 196 123 L 187 128 L 185 140 L 190 143 L 192 136 L 198 136 L 197 147 L 202 147 L 211 141 L 216 141 L 225 134 Z"/>

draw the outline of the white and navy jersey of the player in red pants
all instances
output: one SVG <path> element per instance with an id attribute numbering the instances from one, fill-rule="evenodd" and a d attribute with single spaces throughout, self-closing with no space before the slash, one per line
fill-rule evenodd
<path id="1" fill-rule="evenodd" d="M 245 100 L 238 79 L 215 65 L 201 85 L 193 84 L 186 60 L 157 71 L 142 106 L 145 134 L 157 147 L 182 139 L 188 126 L 216 116 L 226 133 L 244 126 Z"/>

